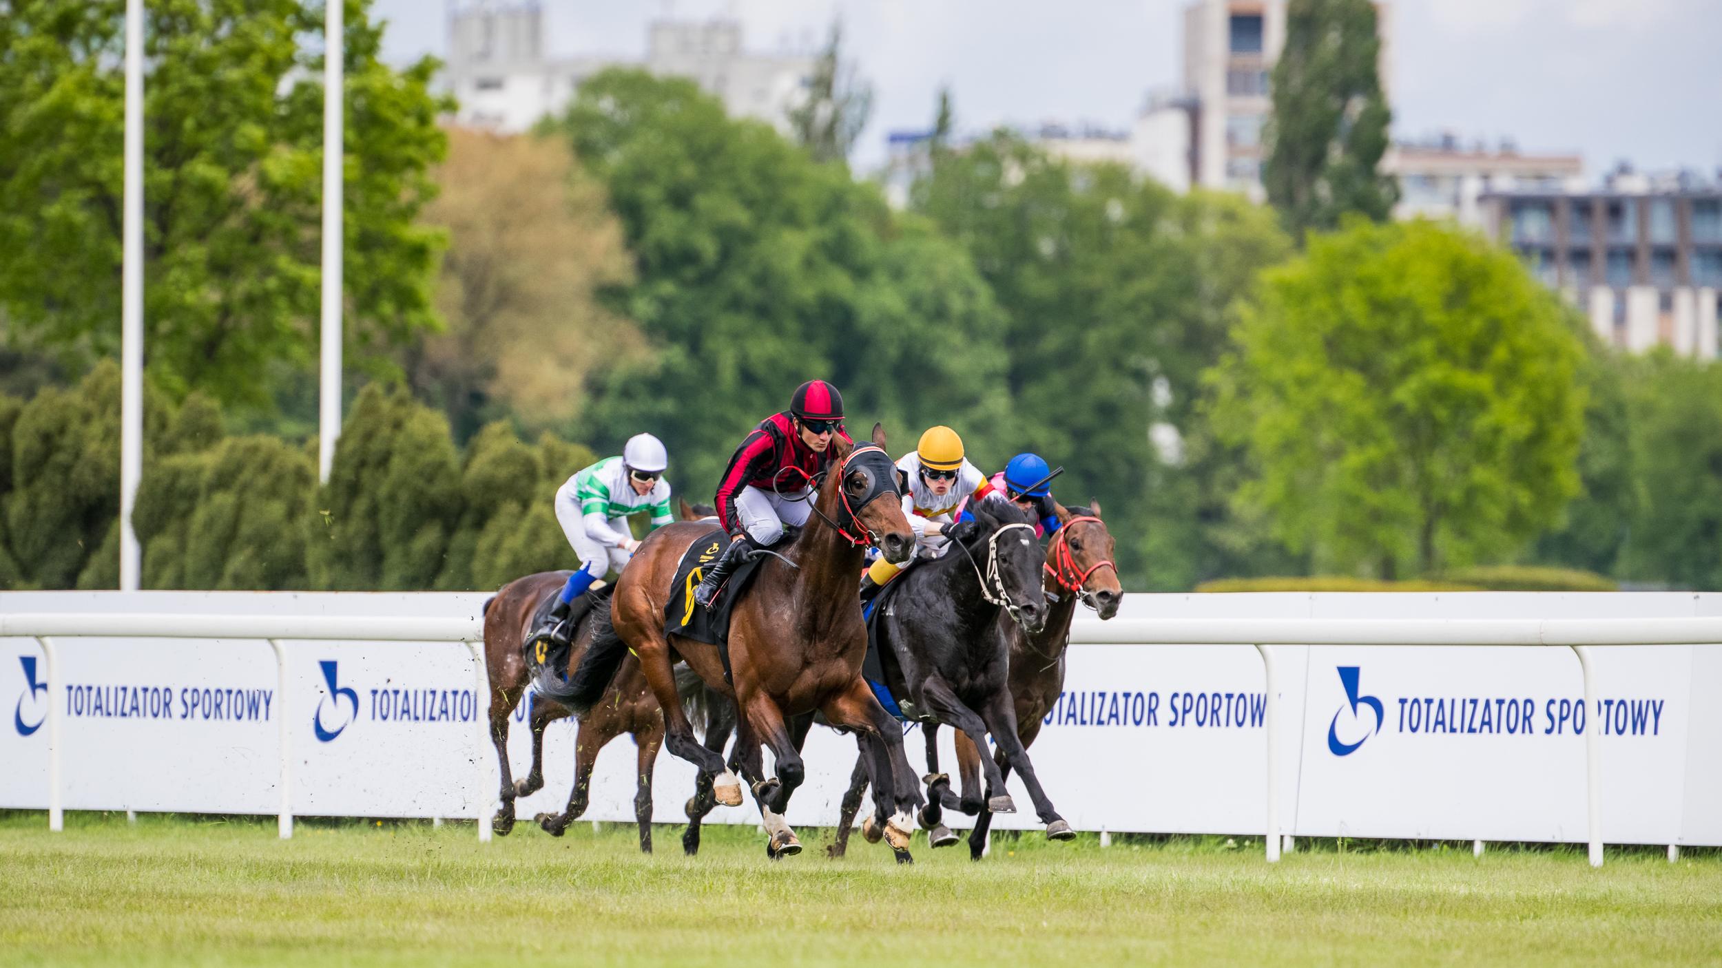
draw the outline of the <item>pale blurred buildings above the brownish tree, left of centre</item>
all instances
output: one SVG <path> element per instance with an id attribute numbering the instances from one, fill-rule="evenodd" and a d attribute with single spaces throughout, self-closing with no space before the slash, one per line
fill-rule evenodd
<path id="1" fill-rule="evenodd" d="M 784 127 L 813 74 L 811 53 L 749 53 L 735 21 L 656 21 L 646 59 L 546 57 L 544 12 L 536 2 L 477 0 L 449 10 L 444 79 L 460 102 L 456 121 L 496 131 L 525 131 L 567 109 L 580 81 L 606 67 L 642 67 L 692 78 L 732 115 Z"/>

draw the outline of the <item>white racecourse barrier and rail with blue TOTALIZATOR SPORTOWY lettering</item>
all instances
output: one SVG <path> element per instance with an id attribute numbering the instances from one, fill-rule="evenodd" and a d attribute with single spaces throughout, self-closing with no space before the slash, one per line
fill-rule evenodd
<path id="1" fill-rule="evenodd" d="M 294 815 L 468 816 L 484 837 L 484 599 L 3 593 L 0 806 L 53 827 L 62 808 L 279 813 L 282 835 Z M 1269 859 L 1295 835 L 1588 841 L 1593 863 L 1603 839 L 1722 844 L 1722 649 L 1694 648 L 1719 641 L 1717 594 L 1131 594 L 1078 617 L 1033 756 L 1078 828 L 1273 832 Z M 904 739 L 920 768 L 920 729 Z M 523 816 L 563 806 L 572 723 L 544 753 Z M 854 756 L 815 730 L 792 823 L 832 823 Z M 634 818 L 632 763 L 599 758 L 587 818 Z M 680 822 L 689 789 L 661 754 L 654 818 Z"/>

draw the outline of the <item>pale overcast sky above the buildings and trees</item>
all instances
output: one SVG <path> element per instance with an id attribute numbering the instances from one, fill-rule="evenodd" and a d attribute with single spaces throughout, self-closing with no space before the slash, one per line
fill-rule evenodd
<path id="1" fill-rule="evenodd" d="M 470 0 L 467 0 L 470 2 Z M 1181 76 L 1185 0 L 542 0 L 548 50 L 641 57 L 654 17 L 732 16 L 749 50 L 816 47 L 842 17 L 873 84 L 856 164 L 926 127 L 1092 121 L 1124 129 Z M 446 47 L 446 0 L 374 0 L 393 62 Z M 1586 174 L 1722 167 L 1722 0 L 1393 0 L 1393 129 L 1576 150 Z"/>

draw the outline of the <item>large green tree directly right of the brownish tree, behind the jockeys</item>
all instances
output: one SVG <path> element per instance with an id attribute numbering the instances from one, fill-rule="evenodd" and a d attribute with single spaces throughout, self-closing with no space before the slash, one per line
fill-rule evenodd
<path id="1" fill-rule="evenodd" d="M 907 422 L 889 427 L 899 443 L 933 422 L 995 419 L 1002 372 L 975 351 L 997 338 L 985 284 L 873 186 L 766 124 L 727 119 L 685 79 L 606 71 L 580 86 L 563 129 L 635 260 L 634 282 L 603 296 L 647 341 L 591 370 L 580 437 L 616 453 L 658 434 L 677 489 L 706 496 L 747 429 L 806 379 L 861 394 L 849 403 L 861 422 L 890 401 Z M 916 365 L 899 374 L 873 353 Z M 925 379 L 937 384 L 913 382 Z"/>

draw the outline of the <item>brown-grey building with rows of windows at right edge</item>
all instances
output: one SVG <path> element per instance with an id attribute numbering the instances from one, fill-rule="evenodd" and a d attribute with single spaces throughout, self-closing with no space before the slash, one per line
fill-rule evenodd
<path id="1" fill-rule="evenodd" d="M 1564 291 L 1610 346 L 1717 357 L 1722 184 L 1619 171 L 1601 191 L 1483 195 L 1486 231 Z"/>

